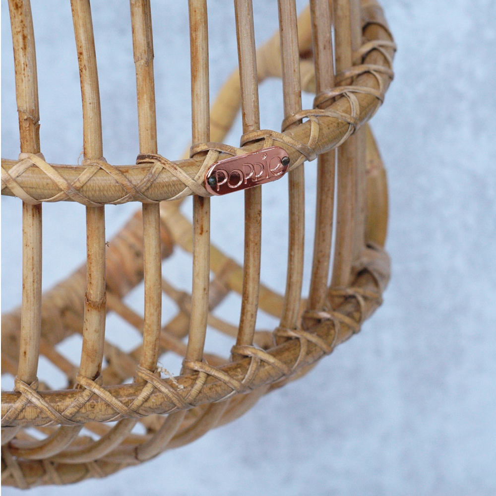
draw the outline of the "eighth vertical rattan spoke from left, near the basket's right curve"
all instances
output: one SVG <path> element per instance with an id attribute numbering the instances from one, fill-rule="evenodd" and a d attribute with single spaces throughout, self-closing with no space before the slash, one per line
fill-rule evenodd
<path id="1" fill-rule="evenodd" d="M 335 3 L 336 72 L 352 65 L 351 19 L 349 0 Z M 344 81 L 346 83 L 346 81 Z M 342 82 L 341 82 L 342 83 Z M 350 136 L 337 151 L 336 242 L 332 269 L 332 286 L 346 286 L 354 258 L 353 237 L 356 219 L 356 136 Z"/>

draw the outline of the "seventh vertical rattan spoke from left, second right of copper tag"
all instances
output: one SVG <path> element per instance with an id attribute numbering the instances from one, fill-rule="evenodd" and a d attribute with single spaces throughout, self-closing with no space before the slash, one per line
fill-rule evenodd
<path id="1" fill-rule="evenodd" d="M 327 2 L 310 1 L 315 63 L 315 92 L 330 89 L 334 84 L 331 39 L 331 11 Z M 335 151 L 317 159 L 317 198 L 315 205 L 315 236 L 308 308 L 321 309 L 327 291 L 332 244 L 334 211 Z"/>

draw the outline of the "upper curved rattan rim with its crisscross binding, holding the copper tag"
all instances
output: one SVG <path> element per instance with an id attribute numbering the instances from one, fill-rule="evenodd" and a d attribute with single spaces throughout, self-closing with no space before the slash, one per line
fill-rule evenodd
<path id="1" fill-rule="evenodd" d="M 312 111 L 303 111 L 299 117 L 311 116 L 311 119 L 281 133 L 250 133 L 242 138 L 245 143 L 242 142 L 241 147 L 234 152 L 223 152 L 225 149 L 233 150 L 233 147 L 221 143 L 204 143 L 193 151 L 217 150 L 218 160 L 222 160 L 232 156 L 232 153 L 250 153 L 263 148 L 267 145 L 265 141 L 268 137 L 286 150 L 291 159 L 291 171 L 304 160 L 313 160 L 317 155 L 338 146 L 372 117 L 392 80 L 391 62 L 395 51 L 392 37 L 384 23 L 378 23 L 376 5 L 364 6 L 363 13 L 364 34 L 371 41 L 362 45 L 357 54 L 361 63 L 355 66 L 355 75 L 358 74 L 358 77 L 354 86 L 337 87 L 334 93 L 323 92 L 315 98 L 317 103 L 320 102 L 319 108 L 329 115 L 312 115 Z M 311 66 L 303 65 L 302 80 L 307 82 L 309 88 L 315 84 L 308 77 L 311 70 Z M 348 78 L 351 74 L 347 71 L 341 77 Z M 350 94 L 354 94 L 358 100 L 357 115 L 353 115 Z M 157 162 L 111 166 L 102 159 L 102 162 L 89 161 L 83 165 L 61 165 L 49 164 L 41 157 L 26 157 L 25 154 L 20 158 L 17 161 L 1 159 L 2 194 L 19 196 L 27 203 L 68 200 L 89 206 L 128 201 L 158 202 L 192 194 L 193 191 L 187 186 L 185 191 L 185 183 L 170 170 L 180 168 L 190 180 L 201 186 L 203 174 L 198 171 L 202 170 L 205 162 L 204 157 L 176 161 L 166 159 L 166 163 L 172 164 L 170 170 L 164 168 L 157 174 L 153 170 Z M 92 170 L 95 168 L 96 172 Z M 80 186 L 80 178 L 85 175 L 89 179 Z M 152 181 L 150 177 L 153 177 Z M 204 188 L 203 192 L 194 191 L 194 194 L 209 196 Z"/>

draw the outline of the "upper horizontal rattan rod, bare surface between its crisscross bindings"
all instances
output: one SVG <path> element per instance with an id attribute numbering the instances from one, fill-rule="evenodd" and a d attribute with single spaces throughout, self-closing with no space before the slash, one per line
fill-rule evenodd
<path id="1" fill-rule="evenodd" d="M 372 5 L 371 8 L 376 20 L 374 23 L 367 25 L 366 37 L 369 40 L 391 43 L 391 36 L 385 21 L 380 18 L 380 10 L 375 5 Z M 365 12 L 365 15 L 368 15 L 368 13 Z M 394 49 L 392 45 L 384 46 L 383 52 L 388 58 L 392 58 Z M 390 69 L 389 61 L 386 57 L 384 57 L 384 55 L 382 55 L 381 52 L 377 50 L 372 50 L 366 56 L 364 63 L 383 66 L 387 70 Z M 381 73 L 379 77 L 382 80 L 383 90 L 387 90 L 391 80 L 390 75 Z M 357 77 L 356 85 L 370 87 L 375 90 L 378 88 L 376 78 L 369 73 L 364 73 Z M 357 94 L 357 100 L 360 105 L 359 123 L 363 124 L 377 109 L 379 101 L 376 97 L 365 93 Z M 341 97 L 330 105 L 329 109 L 346 113 L 349 112 L 350 107 L 347 99 L 345 97 Z M 314 150 L 316 153 L 322 153 L 331 149 L 340 141 L 348 130 L 349 125 L 334 117 L 323 116 L 319 117 L 318 121 L 320 124 L 320 133 L 317 142 L 315 143 Z M 295 130 L 292 130 L 291 134 L 300 141 L 308 141 L 310 136 L 310 123 L 305 122 L 300 124 Z M 281 146 L 286 149 L 288 156 L 293 163 L 300 157 L 300 153 L 288 145 L 281 144 Z M 247 143 L 244 145 L 243 149 L 248 153 L 258 149 L 259 147 L 260 145 L 258 143 Z M 219 156 L 219 160 L 228 157 L 229 155 L 227 154 L 221 154 Z M 196 158 L 185 161 L 176 161 L 175 163 L 180 165 L 190 177 L 194 177 L 198 171 L 198 167 L 201 165 L 201 162 L 202 159 Z M 6 172 L 11 171 L 16 163 L 16 161 L 2 159 L 2 167 Z M 69 183 L 74 182 L 81 174 L 80 167 L 66 165 L 54 165 L 54 167 Z M 124 174 L 124 177 L 127 177 L 134 184 L 139 184 L 139 182 L 150 170 L 150 167 L 151 165 L 120 166 L 120 171 Z M 43 200 L 44 198 L 52 197 L 60 192 L 59 187 L 55 186 L 53 181 L 49 179 L 44 172 L 40 171 L 36 167 L 29 168 L 20 177 L 15 176 L 15 178 L 18 184 L 35 198 L 41 198 Z M 92 201 L 115 202 L 119 201 L 119 198 L 122 197 L 122 186 L 118 185 L 113 178 L 102 170 L 98 171 L 93 176 L 90 183 L 91 186 L 88 185 L 82 187 L 82 192 Z M 162 171 L 154 183 L 147 189 L 147 196 L 152 200 L 164 200 L 175 196 L 182 189 L 183 185 L 178 179 L 176 179 L 170 172 Z M 2 183 L 2 194 L 13 194 L 12 191 L 10 191 L 10 189 L 6 186 L 6 183 Z M 125 201 L 130 201 L 130 199 Z"/>

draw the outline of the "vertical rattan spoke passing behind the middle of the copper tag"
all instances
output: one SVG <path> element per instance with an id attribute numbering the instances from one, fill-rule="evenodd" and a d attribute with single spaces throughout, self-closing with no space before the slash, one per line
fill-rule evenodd
<path id="1" fill-rule="evenodd" d="M 241 82 L 243 132 L 260 128 L 256 73 L 253 6 L 251 0 L 235 0 L 236 33 Z M 262 190 L 255 186 L 245 191 L 245 258 L 240 330 L 237 345 L 253 342 L 260 285 Z"/>

